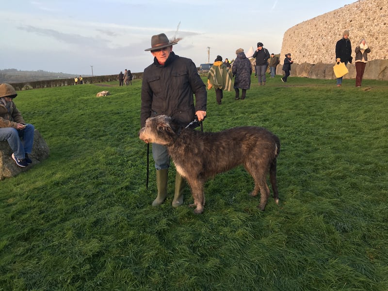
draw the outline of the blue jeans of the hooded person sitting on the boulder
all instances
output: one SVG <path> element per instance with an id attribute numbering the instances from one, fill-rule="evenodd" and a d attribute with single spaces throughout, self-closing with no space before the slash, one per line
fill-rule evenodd
<path id="1" fill-rule="evenodd" d="M 0 141 L 7 141 L 17 159 L 22 160 L 31 154 L 34 126 L 27 124 L 24 129 L 0 128 Z"/>

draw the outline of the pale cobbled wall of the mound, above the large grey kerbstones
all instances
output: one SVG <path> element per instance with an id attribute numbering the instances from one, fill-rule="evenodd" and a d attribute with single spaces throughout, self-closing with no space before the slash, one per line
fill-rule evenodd
<path id="1" fill-rule="evenodd" d="M 388 1 L 359 0 L 287 30 L 280 64 L 286 53 L 297 64 L 334 64 L 336 43 L 344 30 L 349 30 L 353 57 L 360 39 L 365 38 L 371 48 L 368 60 L 388 59 Z"/>

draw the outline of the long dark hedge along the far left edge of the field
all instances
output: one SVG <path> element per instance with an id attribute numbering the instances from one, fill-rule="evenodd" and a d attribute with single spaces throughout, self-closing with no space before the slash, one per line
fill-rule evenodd
<path id="1" fill-rule="evenodd" d="M 142 79 L 143 73 L 132 73 L 133 79 Z M 110 81 L 117 81 L 117 75 L 107 75 L 107 76 L 94 76 L 94 77 L 82 77 L 84 84 L 94 84 L 94 83 L 103 83 Z M 28 89 L 38 89 L 38 88 L 50 88 L 50 87 L 61 87 L 61 86 L 72 86 L 75 85 L 74 78 L 67 79 L 53 79 L 45 81 L 31 81 L 31 82 L 19 82 L 11 83 L 16 91 L 28 90 Z"/>

